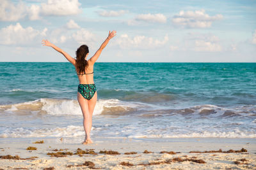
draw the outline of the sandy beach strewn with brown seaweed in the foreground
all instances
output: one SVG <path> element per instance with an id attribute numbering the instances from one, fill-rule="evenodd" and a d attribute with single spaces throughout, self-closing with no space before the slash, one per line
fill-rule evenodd
<path id="1" fill-rule="evenodd" d="M 253 138 L 95 138 L 90 145 L 41 140 L 2 138 L 0 169 L 256 169 Z"/>

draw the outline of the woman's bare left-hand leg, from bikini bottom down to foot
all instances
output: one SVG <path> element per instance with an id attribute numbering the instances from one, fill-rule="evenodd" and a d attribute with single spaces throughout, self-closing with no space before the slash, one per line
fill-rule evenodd
<path id="1" fill-rule="evenodd" d="M 84 139 L 83 144 L 86 143 L 92 143 L 92 139 L 90 138 L 90 132 L 92 129 L 92 115 L 90 114 L 89 108 L 88 108 L 88 101 L 84 99 L 84 97 L 77 92 L 77 101 L 81 107 L 82 113 L 83 113 L 83 125 L 84 125 L 84 131 L 86 138 Z"/>

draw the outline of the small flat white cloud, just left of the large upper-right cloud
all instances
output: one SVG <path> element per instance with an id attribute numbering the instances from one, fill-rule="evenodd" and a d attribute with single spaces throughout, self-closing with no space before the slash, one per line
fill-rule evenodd
<path id="1" fill-rule="evenodd" d="M 137 15 L 135 17 L 135 20 L 145 21 L 145 22 L 166 23 L 166 17 L 161 13 L 157 13 L 157 14 L 148 13 L 148 14 Z"/>

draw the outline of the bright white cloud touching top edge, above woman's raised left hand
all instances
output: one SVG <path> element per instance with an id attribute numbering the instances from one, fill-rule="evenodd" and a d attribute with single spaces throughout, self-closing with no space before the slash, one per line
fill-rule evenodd
<path id="1" fill-rule="evenodd" d="M 81 12 L 78 0 L 48 0 L 42 3 L 42 13 L 44 15 L 76 15 Z"/>

